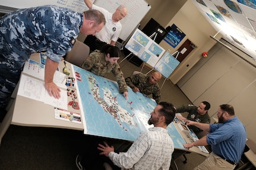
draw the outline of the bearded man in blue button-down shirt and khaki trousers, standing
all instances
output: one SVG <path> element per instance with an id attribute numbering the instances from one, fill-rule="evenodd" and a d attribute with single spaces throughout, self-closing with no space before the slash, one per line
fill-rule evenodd
<path id="1" fill-rule="evenodd" d="M 184 144 L 189 149 L 193 146 L 211 145 L 212 152 L 206 161 L 195 169 L 234 169 L 241 159 L 246 143 L 244 125 L 235 116 L 232 105 L 220 105 L 217 111 L 219 123 L 206 124 L 187 120 L 187 125 L 197 126 L 210 134 L 192 143 Z"/>

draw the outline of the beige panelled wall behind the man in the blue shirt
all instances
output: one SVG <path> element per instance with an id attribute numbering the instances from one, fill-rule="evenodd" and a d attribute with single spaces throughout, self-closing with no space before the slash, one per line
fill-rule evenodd
<path id="1" fill-rule="evenodd" d="M 248 57 L 235 47 L 232 49 Z M 210 102 L 208 113 L 212 117 L 217 118 L 219 105 L 233 105 L 236 116 L 246 127 L 248 137 L 256 142 L 255 66 L 219 43 L 208 53 L 208 57 L 202 58 L 177 85 L 194 104 L 204 100 Z"/>

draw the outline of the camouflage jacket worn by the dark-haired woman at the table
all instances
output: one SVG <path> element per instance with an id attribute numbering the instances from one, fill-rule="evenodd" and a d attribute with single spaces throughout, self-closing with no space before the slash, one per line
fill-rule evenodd
<path id="1" fill-rule="evenodd" d="M 100 53 L 99 50 L 91 52 L 81 65 L 81 68 L 102 77 L 112 72 L 116 78 L 116 82 L 118 82 L 119 92 L 123 93 L 128 91 L 128 86 L 124 79 L 124 73 L 118 63 L 111 65 L 110 62 L 106 62 L 105 53 Z"/>

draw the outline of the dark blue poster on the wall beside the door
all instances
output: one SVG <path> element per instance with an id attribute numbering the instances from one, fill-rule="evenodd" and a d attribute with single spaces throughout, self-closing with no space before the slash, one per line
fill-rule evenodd
<path id="1" fill-rule="evenodd" d="M 170 46 L 173 48 L 178 46 L 179 42 L 181 42 L 181 40 L 186 36 L 186 34 L 184 34 L 175 24 L 172 24 L 172 26 L 166 28 L 166 30 L 170 31 L 163 40 L 165 40 L 166 43 L 170 44 Z"/>

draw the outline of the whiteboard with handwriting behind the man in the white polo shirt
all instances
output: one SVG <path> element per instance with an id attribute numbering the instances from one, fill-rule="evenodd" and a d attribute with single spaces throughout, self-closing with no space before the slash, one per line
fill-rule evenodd
<path id="1" fill-rule="evenodd" d="M 119 39 L 126 41 L 129 35 L 137 28 L 140 21 L 144 18 L 151 6 L 144 0 L 96 0 L 94 4 L 107 9 L 113 13 L 119 5 L 125 5 L 128 14 L 120 22 L 122 24 L 122 31 Z"/>

